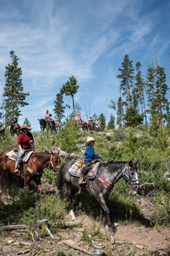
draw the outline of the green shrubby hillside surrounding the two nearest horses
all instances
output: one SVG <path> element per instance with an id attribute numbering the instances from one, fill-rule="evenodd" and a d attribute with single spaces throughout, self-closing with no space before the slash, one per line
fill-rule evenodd
<path id="1" fill-rule="evenodd" d="M 35 151 L 51 149 L 53 142 L 57 143 L 63 151 L 84 155 L 85 142 L 88 136 L 93 136 L 97 142 L 94 145 L 95 152 L 102 157 L 102 161 L 108 158 L 113 161 L 134 161 L 138 159 L 138 175 L 140 184 L 154 183 L 152 189 L 144 186 L 139 192 L 140 196 L 149 196 L 150 203 L 156 210 L 150 214 L 150 221 L 156 225 L 170 225 L 170 181 L 169 181 L 169 139 L 167 131 L 162 131 L 157 138 L 150 136 L 143 126 L 135 129 L 122 128 L 119 130 L 104 130 L 102 132 L 82 132 L 72 122 L 63 124 L 60 133 L 33 133 L 35 139 Z M 17 147 L 17 137 L 13 139 L 6 133 L 1 138 L 0 151 Z M 60 200 L 57 187 L 57 176 L 51 170 L 45 169 L 42 177 L 42 185 L 45 193 L 39 195 L 35 192 L 27 192 L 23 188 L 23 180 L 14 177 L 11 186 L 11 200 L 9 204 L 0 201 L 0 215 L 2 219 L 8 219 L 11 223 L 33 223 L 36 219 L 50 218 L 51 223 L 63 218 L 68 211 L 66 200 Z M 134 195 L 129 194 L 128 189 L 122 183 L 116 183 L 110 193 L 108 201 L 110 214 L 113 221 L 144 223 L 145 217 L 138 207 Z M 19 189 L 18 189 L 19 188 Z M 32 184 L 32 188 L 35 186 Z M 5 181 L 4 181 L 5 189 Z M 5 194 L 3 195 L 5 198 Z M 100 208 L 96 199 L 87 195 L 76 195 L 74 198 L 76 212 L 88 214 L 98 218 Z M 30 218 L 31 216 L 31 218 Z"/>

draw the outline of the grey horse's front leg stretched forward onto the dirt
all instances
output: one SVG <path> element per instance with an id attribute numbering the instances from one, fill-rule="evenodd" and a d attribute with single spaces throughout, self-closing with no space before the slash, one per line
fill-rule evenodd
<path id="1" fill-rule="evenodd" d="M 104 199 L 104 196 L 100 193 L 99 195 L 96 196 L 96 198 L 97 201 L 100 203 L 101 208 L 103 208 L 104 214 L 107 217 L 107 225 L 109 226 L 109 232 L 110 234 L 114 235 L 116 233 L 116 226 L 114 223 L 112 224 L 110 221 L 110 210 L 107 207 L 107 203 Z M 102 213 L 100 212 L 100 214 L 100 217 L 102 218 Z"/>

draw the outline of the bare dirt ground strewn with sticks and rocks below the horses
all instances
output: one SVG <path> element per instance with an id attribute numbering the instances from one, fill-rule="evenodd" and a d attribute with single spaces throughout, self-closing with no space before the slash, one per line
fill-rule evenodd
<path id="1" fill-rule="evenodd" d="M 147 197 L 138 198 L 138 203 L 148 216 L 153 211 L 153 204 Z M 66 214 L 65 221 L 71 221 L 70 214 Z M 170 255 L 170 229 L 146 228 L 145 226 L 125 225 L 116 223 L 117 232 L 109 236 L 107 226 L 98 229 L 90 217 L 77 216 L 81 222 L 79 226 L 65 227 L 54 230 L 51 235 L 43 229 L 12 229 L 0 228 L 0 256 L 13 255 L 96 255 L 104 251 L 106 255 Z M 94 236 L 94 230 L 96 230 Z M 103 235 L 101 234 L 103 233 Z M 93 234 L 93 236 L 92 236 Z M 52 237 L 53 236 L 53 237 Z M 115 242 L 115 243 L 113 243 Z"/>

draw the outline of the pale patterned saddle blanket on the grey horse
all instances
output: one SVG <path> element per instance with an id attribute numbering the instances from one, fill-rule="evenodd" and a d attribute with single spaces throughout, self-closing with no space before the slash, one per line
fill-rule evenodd
<path id="1" fill-rule="evenodd" d="M 79 177 L 81 171 L 82 171 L 82 168 L 79 168 L 77 166 L 77 162 L 76 161 L 69 169 L 69 173 L 72 175 L 72 176 L 75 176 L 75 177 Z M 88 171 L 88 179 L 89 180 L 93 180 L 95 177 L 96 177 L 96 174 L 97 174 L 97 170 L 98 170 L 98 166 L 99 166 L 100 162 L 94 164 L 94 166 L 91 168 L 91 170 Z"/>

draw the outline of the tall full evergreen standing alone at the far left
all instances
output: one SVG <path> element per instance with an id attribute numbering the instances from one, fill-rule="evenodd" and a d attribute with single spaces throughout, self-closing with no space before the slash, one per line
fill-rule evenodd
<path id="1" fill-rule="evenodd" d="M 5 87 L 4 87 L 4 109 L 5 109 L 5 123 L 8 125 L 11 123 L 11 119 L 16 115 L 19 117 L 20 107 L 28 105 L 25 101 L 26 96 L 29 95 L 29 92 L 23 92 L 23 83 L 22 83 L 22 70 L 18 67 L 17 55 L 14 54 L 14 51 L 10 52 L 12 63 L 8 64 L 5 67 Z"/>

